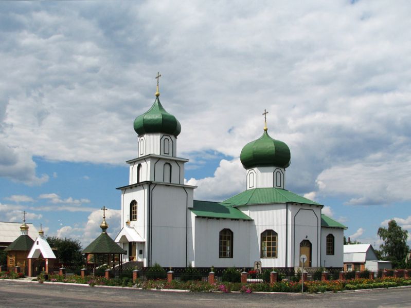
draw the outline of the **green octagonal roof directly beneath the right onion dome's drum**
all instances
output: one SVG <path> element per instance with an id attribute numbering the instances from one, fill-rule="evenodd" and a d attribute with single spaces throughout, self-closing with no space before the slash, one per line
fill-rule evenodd
<path id="1" fill-rule="evenodd" d="M 236 196 L 228 198 L 224 202 L 233 206 L 290 202 L 321 205 L 307 198 L 298 196 L 289 190 L 274 187 L 248 189 L 240 192 L 240 194 Z"/>

